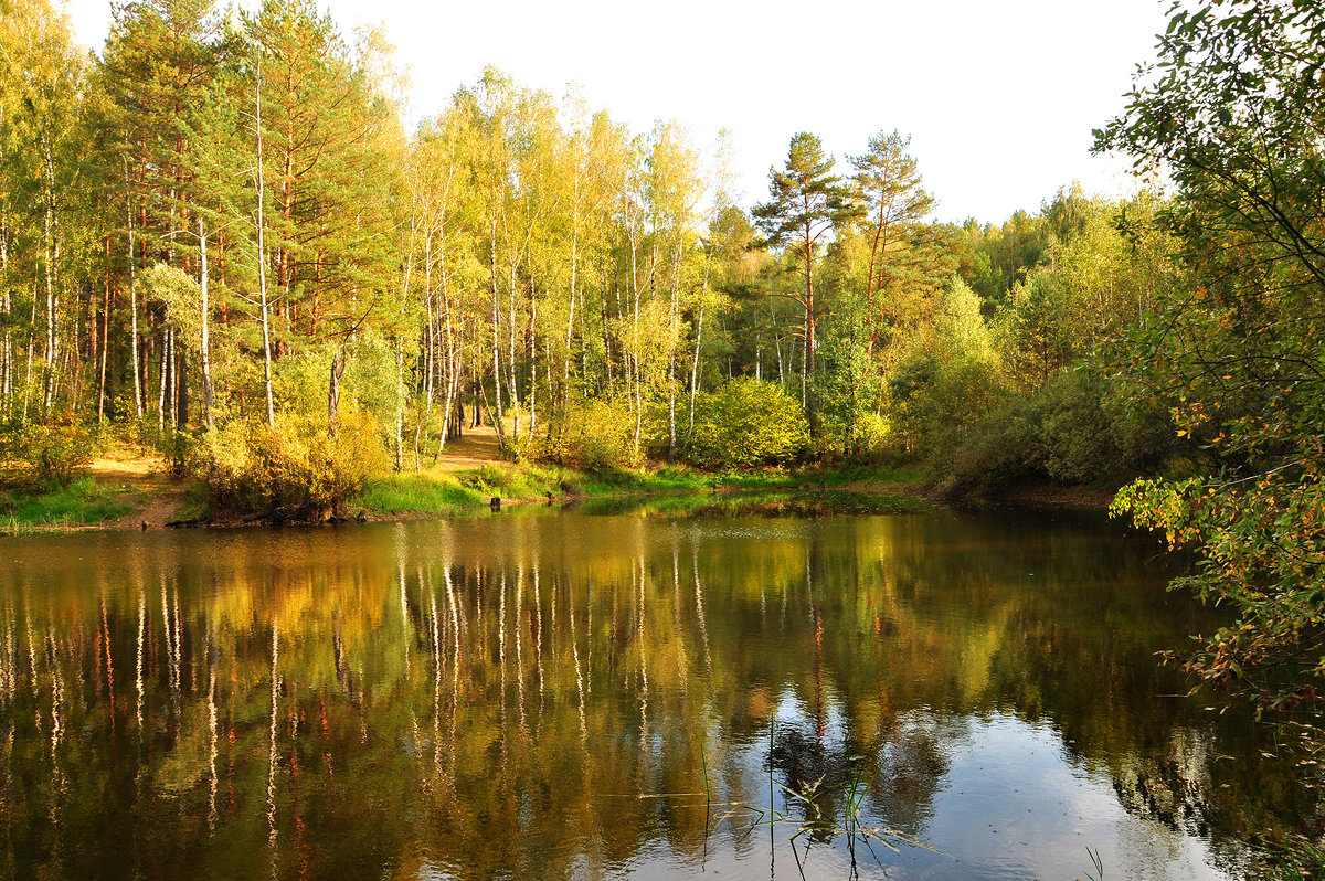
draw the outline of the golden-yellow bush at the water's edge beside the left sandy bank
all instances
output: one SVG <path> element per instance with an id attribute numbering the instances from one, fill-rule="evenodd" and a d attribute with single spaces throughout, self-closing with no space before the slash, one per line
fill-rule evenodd
<path id="1" fill-rule="evenodd" d="M 380 428 L 367 415 L 342 411 L 335 437 L 326 427 L 278 416 L 232 423 L 207 435 L 199 470 L 213 506 L 301 519 L 339 515 L 370 476 L 388 468 Z"/>

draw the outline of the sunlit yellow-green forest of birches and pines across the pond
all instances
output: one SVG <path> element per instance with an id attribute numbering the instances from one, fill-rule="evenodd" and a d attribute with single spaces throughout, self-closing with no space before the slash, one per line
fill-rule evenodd
<path id="1" fill-rule="evenodd" d="M 833 163 L 802 132 L 746 211 L 725 135 L 701 152 L 490 69 L 407 134 L 380 36 L 309 3 L 221 12 L 117 5 L 98 60 L 45 0 L 4 8 L 16 456 L 33 423 L 117 423 L 201 439 L 213 477 L 338 449 L 401 469 L 485 421 L 587 468 L 950 462 L 1174 274 L 1150 196 L 934 224 L 906 138 Z M 1134 441 L 1039 465 L 1086 478 Z"/>

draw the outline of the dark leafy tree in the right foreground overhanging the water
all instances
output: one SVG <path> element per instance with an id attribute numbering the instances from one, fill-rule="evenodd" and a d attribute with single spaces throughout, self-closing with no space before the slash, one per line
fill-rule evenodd
<path id="1" fill-rule="evenodd" d="M 1166 220 L 1194 274 L 1121 367 L 1220 464 L 1134 484 L 1114 509 L 1199 548 L 1178 584 L 1236 616 L 1186 669 L 1271 707 L 1314 700 L 1325 676 L 1322 72 L 1320 4 L 1185 8 L 1159 66 L 1097 132 L 1175 181 Z"/>

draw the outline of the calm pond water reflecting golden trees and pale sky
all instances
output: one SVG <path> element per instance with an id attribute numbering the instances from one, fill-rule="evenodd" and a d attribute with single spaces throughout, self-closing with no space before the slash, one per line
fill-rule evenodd
<path id="1" fill-rule="evenodd" d="M 0 877 L 1218 878 L 1313 832 L 1105 523 L 562 513 L 0 544 Z"/>

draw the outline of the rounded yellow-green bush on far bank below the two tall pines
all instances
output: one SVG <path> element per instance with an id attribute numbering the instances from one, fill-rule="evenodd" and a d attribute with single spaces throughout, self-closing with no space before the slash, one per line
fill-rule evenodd
<path id="1" fill-rule="evenodd" d="M 700 468 L 786 465 L 810 445 L 800 403 L 776 383 L 749 376 L 701 395 L 685 457 Z"/>

